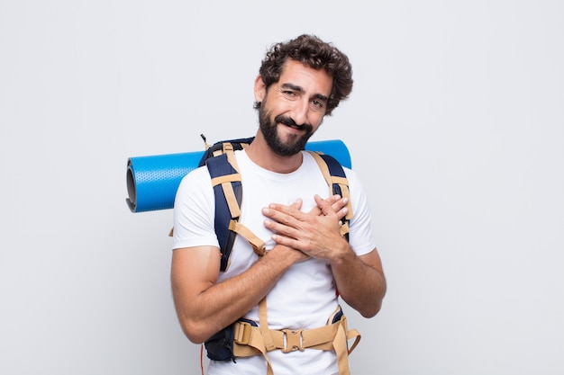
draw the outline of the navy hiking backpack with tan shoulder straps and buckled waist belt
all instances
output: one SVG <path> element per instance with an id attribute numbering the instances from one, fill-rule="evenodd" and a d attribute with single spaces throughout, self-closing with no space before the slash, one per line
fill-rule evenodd
<path id="1" fill-rule="evenodd" d="M 202 138 L 205 142 L 204 135 L 202 135 Z M 256 237 L 250 229 L 244 227 L 239 222 L 241 217 L 242 184 L 234 151 L 248 147 L 253 139 L 238 138 L 224 140 L 214 143 L 211 147 L 205 142 L 207 149 L 198 165 L 205 165 L 207 167 L 212 178 L 212 185 L 214 186 L 214 228 L 222 254 L 220 263 L 220 271 L 222 272 L 229 268 L 232 246 L 237 235 L 247 239 L 254 252 L 259 254 L 259 256 L 266 253 L 264 241 Z M 341 163 L 332 156 L 315 151 L 308 152 L 314 156 L 317 165 L 319 165 L 323 177 L 330 187 L 330 192 L 332 194 L 339 194 L 341 197 L 350 198 L 349 184 Z M 350 200 L 348 208 L 349 213 L 341 219 L 341 235 L 347 241 L 349 240 L 349 221 L 352 219 Z M 259 302 L 259 316 L 260 326 L 257 326 L 256 322 L 241 318 L 208 338 L 205 341 L 207 357 L 214 361 L 235 362 L 237 356 L 250 356 L 261 353 L 268 365 L 267 373 L 272 374 L 272 367 L 267 352 L 282 346 L 279 343 L 277 344 L 278 346 L 274 344 L 273 333 L 268 329 L 266 297 Z M 254 334 L 250 334 L 250 330 L 254 330 Z M 338 356 L 340 373 L 350 373 L 348 370 L 348 355 L 359 343 L 360 334 L 355 329 L 349 330 L 347 328 L 346 318 L 342 314 L 341 308 L 338 308 L 333 316 L 330 317 L 327 326 L 310 330 L 308 331 L 309 335 L 313 331 L 315 334 L 308 338 L 308 342 L 314 341 L 315 343 L 319 342 L 319 344 L 309 344 L 308 346 L 335 351 Z M 337 334 L 338 331 L 341 334 Z M 300 335 L 302 335 L 301 332 L 302 330 L 300 330 Z M 253 342 L 249 340 L 250 337 L 260 337 L 260 339 L 255 338 L 258 341 Z M 351 338 L 354 338 L 355 342 L 348 348 L 347 341 Z M 299 340 L 298 344 L 301 345 Z M 285 347 L 289 345 L 288 343 L 284 344 Z M 289 349 L 289 351 L 293 350 L 296 350 L 296 346 Z"/>

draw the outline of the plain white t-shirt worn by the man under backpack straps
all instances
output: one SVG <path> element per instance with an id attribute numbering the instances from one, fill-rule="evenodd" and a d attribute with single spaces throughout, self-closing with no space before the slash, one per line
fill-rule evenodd
<path id="1" fill-rule="evenodd" d="M 303 200 L 302 210 L 314 205 L 314 194 L 323 198 L 330 189 L 313 156 L 303 152 L 302 165 L 289 174 L 277 174 L 255 165 L 246 152 L 236 151 L 243 186 L 241 223 L 274 246 L 271 231 L 263 225 L 266 219 L 261 209 L 269 203 L 290 205 L 297 198 Z M 369 205 L 362 185 L 350 169 L 345 168 L 349 180 L 350 203 L 354 214 L 350 220 L 349 243 L 358 255 L 368 254 L 376 245 L 372 237 Z M 214 232 L 214 191 L 206 167 L 193 170 L 183 178 L 177 191 L 174 210 L 173 248 L 192 246 L 219 247 Z M 223 281 L 247 270 L 258 255 L 246 239 L 237 237 L 232 248 L 231 264 L 220 272 Z M 327 324 L 327 318 L 338 307 L 338 298 L 328 263 L 309 259 L 297 263 L 277 281 L 267 296 L 268 326 L 271 329 L 310 329 Z M 258 307 L 252 308 L 245 318 L 259 322 Z M 268 353 L 275 375 L 315 374 L 330 375 L 338 372 L 336 356 L 331 351 L 305 349 L 304 352 Z M 233 362 L 210 362 L 210 375 L 264 375 L 266 362 L 262 356 L 240 358 Z"/>

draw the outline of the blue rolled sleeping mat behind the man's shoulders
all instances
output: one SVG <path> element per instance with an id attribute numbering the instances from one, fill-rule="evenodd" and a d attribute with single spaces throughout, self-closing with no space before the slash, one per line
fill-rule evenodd
<path id="1" fill-rule="evenodd" d="M 308 142 L 305 149 L 331 155 L 341 165 L 351 167 L 349 149 L 339 139 Z M 172 209 L 180 181 L 198 167 L 204 152 L 130 157 L 125 199 L 129 209 L 132 212 Z"/>

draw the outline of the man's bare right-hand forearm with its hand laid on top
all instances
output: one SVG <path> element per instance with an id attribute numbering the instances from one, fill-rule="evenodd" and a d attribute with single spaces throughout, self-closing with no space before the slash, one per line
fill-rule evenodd
<path id="1" fill-rule="evenodd" d="M 315 201 L 323 215 L 309 215 L 296 208 L 271 204 L 263 210 L 265 226 L 276 234 L 277 244 L 295 248 L 314 258 L 327 260 L 337 290 L 363 317 L 375 316 L 386 294 L 386 278 L 375 248 L 358 256 L 341 237 L 339 216 L 319 196 Z"/>

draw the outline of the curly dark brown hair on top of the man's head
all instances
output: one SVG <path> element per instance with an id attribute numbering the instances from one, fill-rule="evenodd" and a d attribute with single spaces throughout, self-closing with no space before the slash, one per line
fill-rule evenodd
<path id="1" fill-rule="evenodd" d="M 347 55 L 334 47 L 332 43 L 307 34 L 286 42 L 275 43 L 270 47 L 259 69 L 267 89 L 278 82 L 284 63 L 289 58 L 302 62 L 307 67 L 324 69 L 332 76 L 332 91 L 325 115 L 331 115 L 332 110 L 352 91 L 352 67 Z M 254 108 L 259 109 L 260 103 L 255 103 Z"/>

